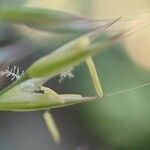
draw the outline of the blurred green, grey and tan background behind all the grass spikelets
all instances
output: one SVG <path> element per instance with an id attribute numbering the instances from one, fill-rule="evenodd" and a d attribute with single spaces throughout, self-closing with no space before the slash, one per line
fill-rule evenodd
<path id="1" fill-rule="evenodd" d="M 130 20 L 149 15 L 149 0 L 0 0 L 4 6 L 33 6 L 62 10 L 98 19 L 121 16 L 126 28 Z M 0 63 L 26 70 L 76 34 L 39 32 L 25 26 L 0 22 Z M 106 95 L 150 82 L 150 28 L 94 57 Z M 47 86 L 58 93 L 95 95 L 85 64 L 75 68 L 74 78 Z M 9 79 L 1 78 L 1 89 Z M 130 150 L 150 149 L 150 87 L 105 97 L 102 101 L 52 110 L 62 136 L 54 143 L 42 112 L 0 112 L 0 150 Z"/>

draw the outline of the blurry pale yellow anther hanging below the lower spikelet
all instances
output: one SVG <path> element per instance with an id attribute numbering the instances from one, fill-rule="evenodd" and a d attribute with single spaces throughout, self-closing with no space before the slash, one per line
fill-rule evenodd
<path id="1" fill-rule="evenodd" d="M 44 117 L 45 123 L 47 125 L 47 128 L 48 128 L 49 132 L 51 133 L 54 141 L 56 143 L 60 143 L 60 140 L 61 140 L 60 133 L 55 124 L 53 116 L 50 114 L 50 112 L 46 111 L 46 112 L 44 112 L 43 117 Z"/>

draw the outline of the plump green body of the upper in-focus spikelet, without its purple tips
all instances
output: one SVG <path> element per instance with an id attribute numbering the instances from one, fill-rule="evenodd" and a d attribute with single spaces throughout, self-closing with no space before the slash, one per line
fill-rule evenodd
<path id="1" fill-rule="evenodd" d="M 88 45 L 89 39 L 86 36 L 67 43 L 35 62 L 29 67 L 27 74 L 31 78 L 40 76 L 53 77 L 80 63 L 89 54 L 88 51 L 85 51 Z"/>

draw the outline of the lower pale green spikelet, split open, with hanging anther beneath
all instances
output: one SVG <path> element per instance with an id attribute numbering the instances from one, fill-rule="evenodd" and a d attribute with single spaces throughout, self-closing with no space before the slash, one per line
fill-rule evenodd
<path id="1" fill-rule="evenodd" d="M 80 95 L 60 95 L 63 99 L 58 99 L 53 94 L 44 94 L 40 91 L 45 79 L 34 78 L 26 80 L 13 87 L 5 94 L 0 96 L 0 110 L 7 111 L 37 111 L 50 108 L 57 108 L 75 103 L 92 100 L 93 98 L 84 98 Z M 95 97 L 96 99 L 96 97 Z"/>

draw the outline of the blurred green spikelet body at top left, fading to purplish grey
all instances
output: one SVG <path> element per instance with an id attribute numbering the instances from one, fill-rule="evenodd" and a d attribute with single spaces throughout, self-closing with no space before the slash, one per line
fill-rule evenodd
<path id="1" fill-rule="evenodd" d="M 50 32 L 85 33 L 96 29 L 96 20 L 57 10 L 34 7 L 0 8 L 0 20 L 23 24 L 34 29 Z"/>

